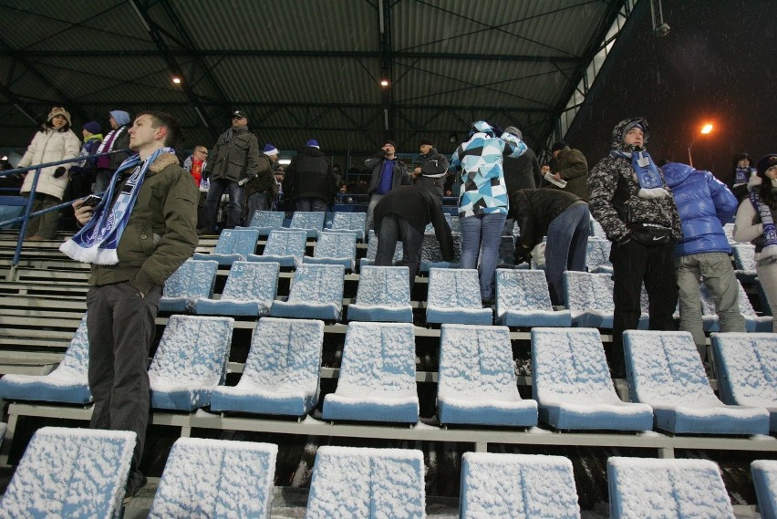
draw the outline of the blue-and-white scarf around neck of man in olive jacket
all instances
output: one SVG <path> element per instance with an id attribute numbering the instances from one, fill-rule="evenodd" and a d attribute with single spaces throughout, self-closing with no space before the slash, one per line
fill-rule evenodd
<path id="1" fill-rule="evenodd" d="M 138 155 L 129 157 L 121 162 L 119 169 L 110 180 L 108 191 L 105 192 L 102 201 L 95 207 L 92 219 L 78 231 L 72 238 L 59 246 L 59 250 L 70 258 L 84 263 L 96 265 L 116 265 L 119 256 L 116 250 L 119 247 L 121 234 L 129 222 L 129 215 L 138 200 L 140 186 L 146 177 L 149 167 L 162 153 L 175 153 L 172 148 L 161 148 L 154 151 L 151 156 L 140 162 Z M 134 169 L 124 187 L 112 202 L 118 180 L 124 171 Z M 110 204 L 110 206 L 109 206 Z"/>

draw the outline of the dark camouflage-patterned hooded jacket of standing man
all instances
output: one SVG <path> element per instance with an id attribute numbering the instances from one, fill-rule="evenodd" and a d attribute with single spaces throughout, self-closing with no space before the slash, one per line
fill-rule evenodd
<path id="1" fill-rule="evenodd" d="M 643 124 L 647 143 L 647 121 L 642 118 L 624 119 L 613 129 L 613 151 L 642 151 L 623 140 L 624 130 L 635 123 Z M 658 171 L 660 172 L 660 169 Z M 664 189 L 671 192 L 666 184 Z M 639 182 L 637 173 L 631 166 L 631 159 L 613 152 L 598 161 L 588 175 L 588 204 L 591 213 L 596 221 L 601 223 L 611 241 L 626 242 L 631 235 L 629 226 L 645 223 L 668 227 L 672 239 L 679 241 L 682 238 L 682 228 L 674 198 L 640 198 L 638 192 Z"/>

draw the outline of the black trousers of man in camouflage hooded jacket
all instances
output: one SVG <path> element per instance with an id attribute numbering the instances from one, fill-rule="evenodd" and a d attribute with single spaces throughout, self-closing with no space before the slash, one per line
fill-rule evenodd
<path id="1" fill-rule="evenodd" d="M 624 368 L 623 332 L 636 329 L 642 314 L 640 298 L 642 283 L 648 293 L 649 328 L 651 330 L 676 329 L 674 318 L 678 304 L 677 273 L 675 271 L 674 245 L 647 247 L 630 240 L 627 244 L 613 244 L 610 261 L 613 264 L 615 289 L 613 303 L 613 369 L 620 373 Z"/>

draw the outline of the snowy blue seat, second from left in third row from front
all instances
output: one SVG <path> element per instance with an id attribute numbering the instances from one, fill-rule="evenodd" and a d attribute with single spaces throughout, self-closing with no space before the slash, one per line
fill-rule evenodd
<path id="1" fill-rule="evenodd" d="M 236 261 L 219 299 L 201 297 L 197 314 L 205 316 L 268 316 L 278 290 L 281 266 Z"/>

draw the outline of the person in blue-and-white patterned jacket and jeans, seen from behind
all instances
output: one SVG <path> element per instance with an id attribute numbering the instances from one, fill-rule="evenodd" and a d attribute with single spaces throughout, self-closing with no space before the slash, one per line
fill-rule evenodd
<path id="1" fill-rule="evenodd" d="M 493 275 L 507 218 L 502 161 L 504 157 L 519 157 L 523 151 L 526 145 L 517 137 L 502 140 L 489 123 L 478 120 L 472 123 L 469 140 L 451 158 L 451 170 L 461 171 L 461 268 L 477 268 L 481 255 L 481 297 L 487 305 L 494 298 Z"/>

